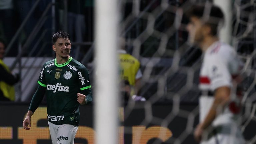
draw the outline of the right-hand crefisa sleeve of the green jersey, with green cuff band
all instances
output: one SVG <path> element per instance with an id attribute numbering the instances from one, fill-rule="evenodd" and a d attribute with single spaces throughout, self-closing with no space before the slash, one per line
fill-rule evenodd
<path id="1" fill-rule="evenodd" d="M 86 95 L 86 104 L 92 102 L 92 90 L 91 90 L 91 82 L 89 78 L 89 71 L 82 67 L 77 72 L 78 74 L 78 83 L 81 93 Z"/>

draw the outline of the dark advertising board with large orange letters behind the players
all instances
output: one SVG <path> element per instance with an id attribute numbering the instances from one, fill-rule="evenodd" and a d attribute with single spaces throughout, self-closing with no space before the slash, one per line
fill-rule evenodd
<path id="1" fill-rule="evenodd" d="M 182 144 L 196 144 L 191 134 L 192 127 L 198 123 L 188 119 L 187 113 L 196 108 L 196 104 L 181 104 L 180 112 L 173 115 L 172 121 L 166 126 L 146 122 L 147 111 L 142 103 L 135 105 L 129 116 L 125 118 L 120 108 L 119 144 L 172 144 L 179 139 Z M 172 104 L 154 104 L 152 116 L 158 119 L 165 119 L 172 111 Z M 51 143 L 47 121 L 47 108 L 39 107 L 32 116 L 31 130 L 26 131 L 22 127 L 22 121 L 27 112 L 27 104 L 1 104 L 0 112 L 0 144 L 48 144 Z M 93 144 L 95 130 L 93 128 L 93 107 L 92 105 L 80 107 L 80 126 L 75 138 L 75 144 Z M 108 122 L 106 122 L 107 124 Z M 243 134 L 247 140 L 255 136 L 256 123 L 251 122 Z M 130 133 L 127 133 L 129 131 Z M 164 133 L 161 133 L 164 132 Z"/>

